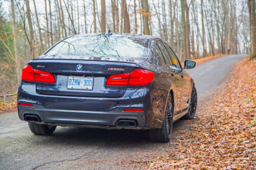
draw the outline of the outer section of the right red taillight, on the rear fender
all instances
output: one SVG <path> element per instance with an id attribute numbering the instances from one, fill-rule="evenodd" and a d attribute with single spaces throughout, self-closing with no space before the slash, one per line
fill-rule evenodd
<path id="1" fill-rule="evenodd" d="M 129 85 L 147 85 L 154 80 L 155 74 L 152 71 L 135 69 L 131 72 Z"/>

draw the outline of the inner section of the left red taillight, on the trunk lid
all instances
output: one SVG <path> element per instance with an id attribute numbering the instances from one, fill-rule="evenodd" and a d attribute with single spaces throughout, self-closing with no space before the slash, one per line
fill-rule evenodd
<path id="1" fill-rule="evenodd" d="M 34 69 L 34 77 L 36 82 L 55 83 L 54 75 L 50 72 Z"/>

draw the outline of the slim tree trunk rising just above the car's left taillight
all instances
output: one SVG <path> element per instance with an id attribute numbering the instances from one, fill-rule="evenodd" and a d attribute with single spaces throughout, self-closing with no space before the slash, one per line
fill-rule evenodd
<path id="1" fill-rule="evenodd" d="M 28 18 L 28 23 L 29 23 L 29 36 L 30 36 L 30 52 L 31 55 L 29 56 L 29 60 L 34 58 L 34 31 L 33 31 L 33 25 L 32 25 L 32 19 L 31 19 L 31 14 L 30 14 L 30 7 L 29 7 L 29 0 L 25 1 L 26 3 L 26 8 L 27 8 L 27 18 Z"/>

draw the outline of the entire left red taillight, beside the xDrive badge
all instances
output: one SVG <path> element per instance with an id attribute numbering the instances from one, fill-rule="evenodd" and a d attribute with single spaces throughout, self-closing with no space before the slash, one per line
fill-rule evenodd
<path id="1" fill-rule="evenodd" d="M 43 83 L 55 83 L 54 75 L 50 72 L 40 71 L 33 69 L 30 65 L 27 65 L 22 70 L 22 80 L 32 82 L 43 82 Z"/>

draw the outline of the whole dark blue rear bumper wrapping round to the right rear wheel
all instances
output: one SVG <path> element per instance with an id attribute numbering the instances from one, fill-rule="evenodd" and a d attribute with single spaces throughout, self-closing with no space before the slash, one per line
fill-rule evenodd
<path id="1" fill-rule="evenodd" d="M 162 85 L 162 84 L 159 84 Z M 22 81 L 18 89 L 18 114 L 37 115 L 41 123 L 55 125 L 117 127 L 120 119 L 135 120 L 143 129 L 161 128 L 165 108 L 165 91 L 155 83 L 127 88 L 120 98 L 90 98 L 40 94 L 34 82 Z M 168 89 L 167 89 L 168 90 Z M 20 106 L 20 103 L 34 107 Z M 125 108 L 139 108 L 142 112 L 124 112 Z M 135 128 L 136 129 L 136 128 Z"/>

